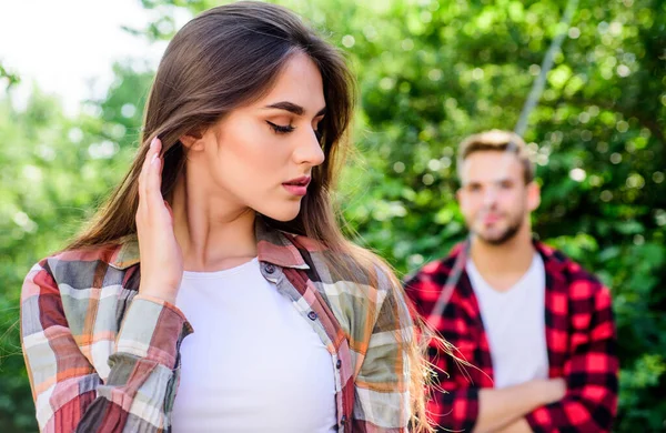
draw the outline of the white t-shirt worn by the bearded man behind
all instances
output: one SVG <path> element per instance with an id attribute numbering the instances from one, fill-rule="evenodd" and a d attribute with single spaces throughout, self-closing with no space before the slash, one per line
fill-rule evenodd
<path id="1" fill-rule="evenodd" d="M 472 259 L 466 266 L 491 346 L 495 387 L 547 379 L 546 272 L 541 255 L 534 254 L 525 275 L 506 292 L 494 290 Z"/>

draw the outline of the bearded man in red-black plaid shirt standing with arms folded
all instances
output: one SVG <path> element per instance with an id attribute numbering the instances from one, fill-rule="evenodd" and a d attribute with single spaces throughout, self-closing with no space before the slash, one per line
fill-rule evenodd
<path id="1" fill-rule="evenodd" d="M 608 432 L 617 405 L 610 295 L 561 252 L 534 241 L 541 201 L 523 140 L 465 140 L 457 200 L 470 241 L 406 282 L 418 313 L 453 344 L 432 343 L 430 412 L 442 431 Z"/>

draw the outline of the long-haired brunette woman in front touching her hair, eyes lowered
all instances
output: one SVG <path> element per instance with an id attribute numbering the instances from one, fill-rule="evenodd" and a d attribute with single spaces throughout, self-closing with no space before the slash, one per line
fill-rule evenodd
<path id="1" fill-rule="evenodd" d="M 352 94 L 281 7 L 178 32 L 129 173 L 26 279 L 42 431 L 428 430 L 400 283 L 332 211 Z"/>

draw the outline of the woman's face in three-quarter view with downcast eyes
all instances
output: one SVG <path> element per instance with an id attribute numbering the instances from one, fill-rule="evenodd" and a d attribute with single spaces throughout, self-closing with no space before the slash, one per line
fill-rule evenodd
<path id="1" fill-rule="evenodd" d="M 310 57 L 296 53 L 265 97 L 232 111 L 189 145 L 189 177 L 203 181 L 205 197 L 229 210 L 293 220 L 312 168 L 324 161 L 316 132 L 324 109 L 321 73 Z"/>

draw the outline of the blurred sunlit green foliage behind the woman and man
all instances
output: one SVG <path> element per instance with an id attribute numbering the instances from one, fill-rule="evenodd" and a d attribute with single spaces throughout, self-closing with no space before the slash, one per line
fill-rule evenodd
<path id="1" fill-rule="evenodd" d="M 218 1 L 142 0 L 169 39 L 176 10 Z M 564 2 L 284 0 L 346 53 L 359 79 L 360 152 L 340 203 L 359 242 L 408 272 L 465 229 L 454 200 L 455 147 L 513 129 Z M 65 48 L 63 48 L 65 49 Z M 583 0 L 525 139 L 543 203 L 542 240 L 594 271 L 614 296 L 622 363 L 617 432 L 666 431 L 666 2 Z M 151 73 L 114 66 L 107 95 L 75 117 L 0 63 L 0 430 L 34 432 L 21 356 L 21 282 L 64 242 L 127 170 Z"/>

